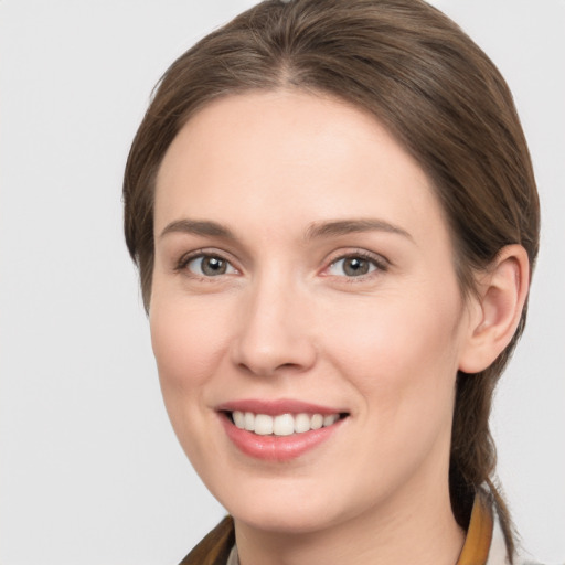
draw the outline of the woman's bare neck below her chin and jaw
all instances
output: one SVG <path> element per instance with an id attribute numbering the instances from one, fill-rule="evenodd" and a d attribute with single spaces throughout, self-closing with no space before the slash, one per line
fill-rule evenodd
<path id="1" fill-rule="evenodd" d="M 262 531 L 235 520 L 241 565 L 454 565 L 465 533 L 446 488 L 404 489 L 404 500 L 381 504 L 337 525 L 307 533 Z M 393 510 L 394 508 L 394 510 Z"/>

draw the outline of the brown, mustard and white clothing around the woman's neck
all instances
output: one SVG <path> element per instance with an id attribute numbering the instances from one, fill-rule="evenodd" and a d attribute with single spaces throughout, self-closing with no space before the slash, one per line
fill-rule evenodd
<path id="1" fill-rule="evenodd" d="M 508 565 L 504 536 L 488 497 L 478 494 L 471 512 L 467 537 L 456 565 Z M 210 532 L 180 565 L 239 565 L 231 516 Z M 541 565 L 520 555 L 514 565 Z"/>

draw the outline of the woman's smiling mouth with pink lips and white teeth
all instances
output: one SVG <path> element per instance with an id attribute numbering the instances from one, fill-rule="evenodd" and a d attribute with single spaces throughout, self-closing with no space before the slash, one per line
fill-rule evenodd
<path id="1" fill-rule="evenodd" d="M 245 455 L 284 461 L 329 439 L 348 413 L 299 401 L 239 401 L 216 408 L 231 441 Z"/>

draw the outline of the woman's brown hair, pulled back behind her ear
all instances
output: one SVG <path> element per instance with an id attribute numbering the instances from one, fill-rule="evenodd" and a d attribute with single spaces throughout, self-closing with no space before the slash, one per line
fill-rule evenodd
<path id="1" fill-rule="evenodd" d="M 511 93 L 484 53 L 422 0 L 267 0 L 211 33 L 163 75 L 134 140 L 124 181 L 125 232 L 146 308 L 153 268 L 153 192 L 161 160 L 186 120 L 221 96 L 297 88 L 371 111 L 433 181 L 450 226 L 463 292 L 508 244 L 533 267 L 540 211 Z M 492 483 L 491 399 L 525 322 L 499 359 L 459 373 L 449 487 L 467 527 L 487 482 L 512 554 L 511 521 Z"/>

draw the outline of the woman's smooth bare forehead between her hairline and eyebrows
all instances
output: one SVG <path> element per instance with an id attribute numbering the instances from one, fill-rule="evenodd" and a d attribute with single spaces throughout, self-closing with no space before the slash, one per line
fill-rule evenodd
<path id="1" fill-rule="evenodd" d="M 428 178 L 376 118 L 300 92 L 207 105 L 173 140 L 157 179 L 157 230 L 194 215 L 237 215 L 255 225 L 284 215 L 316 222 L 367 213 L 412 230 L 443 224 Z M 423 213 L 422 225 L 413 225 Z"/>

